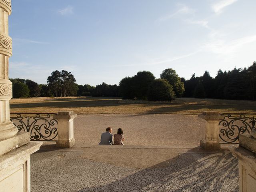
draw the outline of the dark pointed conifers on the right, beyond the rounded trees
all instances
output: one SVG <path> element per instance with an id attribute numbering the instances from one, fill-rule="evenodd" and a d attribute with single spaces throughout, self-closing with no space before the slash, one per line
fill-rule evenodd
<path id="1" fill-rule="evenodd" d="M 256 99 L 256 62 L 248 68 L 234 68 L 228 72 L 218 70 L 215 78 L 208 71 L 200 77 L 182 79 L 184 97 L 216 98 L 229 100 Z"/>

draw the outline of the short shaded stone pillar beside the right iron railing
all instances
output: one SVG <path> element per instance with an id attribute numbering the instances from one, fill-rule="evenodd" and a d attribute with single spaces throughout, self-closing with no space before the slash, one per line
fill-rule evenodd
<path id="1" fill-rule="evenodd" d="M 198 117 L 206 120 L 205 134 L 200 140 L 200 146 L 206 150 L 220 149 L 219 122 L 222 116 L 218 112 L 202 112 Z"/>

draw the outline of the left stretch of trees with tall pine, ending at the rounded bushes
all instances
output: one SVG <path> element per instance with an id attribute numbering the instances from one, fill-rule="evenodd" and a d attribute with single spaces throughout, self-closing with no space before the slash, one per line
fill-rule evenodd
<path id="1" fill-rule="evenodd" d="M 102 83 L 96 87 L 78 85 L 76 79 L 65 70 L 53 71 L 47 84 L 38 84 L 29 79 L 15 78 L 12 81 L 14 98 L 22 97 L 66 97 L 66 96 L 119 96 L 118 86 Z"/>

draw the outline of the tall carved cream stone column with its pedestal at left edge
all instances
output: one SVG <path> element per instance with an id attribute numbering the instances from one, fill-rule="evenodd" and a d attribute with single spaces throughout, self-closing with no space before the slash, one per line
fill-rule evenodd
<path id="1" fill-rule="evenodd" d="M 11 0 L 0 0 L 0 191 L 30 192 L 30 154 L 42 142 L 29 142 L 29 132 L 19 132 L 10 122 L 12 82 L 8 78 L 12 39 L 8 36 Z"/>

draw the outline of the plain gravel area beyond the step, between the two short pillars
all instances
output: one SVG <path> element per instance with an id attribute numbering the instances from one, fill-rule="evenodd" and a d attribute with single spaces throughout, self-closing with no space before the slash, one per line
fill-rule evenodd
<path id="1" fill-rule="evenodd" d="M 205 122 L 193 115 L 174 114 L 91 114 L 74 119 L 76 146 L 97 145 L 110 126 L 113 134 L 124 131 L 125 145 L 199 145 Z"/>

